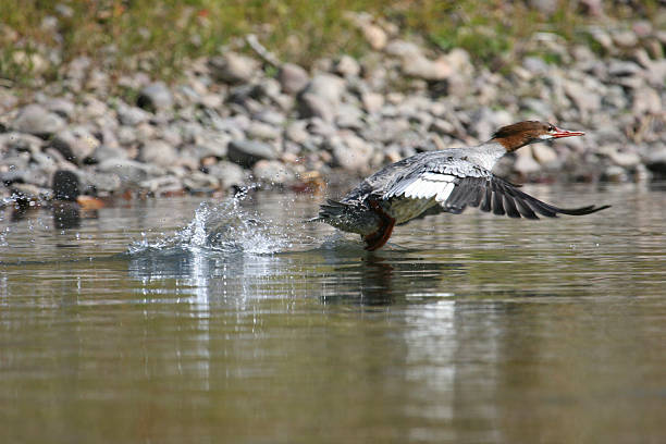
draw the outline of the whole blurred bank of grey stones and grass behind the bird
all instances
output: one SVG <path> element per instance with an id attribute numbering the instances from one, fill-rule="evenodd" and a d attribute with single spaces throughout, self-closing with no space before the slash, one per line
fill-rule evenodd
<path id="1" fill-rule="evenodd" d="M 523 119 L 588 135 L 514 178 L 658 180 L 664 5 L 2 0 L 0 193 L 48 198 L 61 169 L 98 196 L 317 192 Z"/>

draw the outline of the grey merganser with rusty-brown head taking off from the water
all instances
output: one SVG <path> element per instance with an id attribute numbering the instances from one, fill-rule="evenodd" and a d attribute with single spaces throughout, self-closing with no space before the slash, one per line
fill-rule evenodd
<path id="1" fill-rule="evenodd" d="M 558 208 L 492 172 L 504 155 L 521 147 L 583 135 L 540 121 L 503 126 L 481 145 L 420 152 L 388 164 L 342 199 L 326 199 L 311 220 L 360 234 L 365 249 L 373 251 L 386 244 L 396 225 L 441 212 L 459 214 L 468 206 L 509 218 L 591 214 L 609 206 Z"/>

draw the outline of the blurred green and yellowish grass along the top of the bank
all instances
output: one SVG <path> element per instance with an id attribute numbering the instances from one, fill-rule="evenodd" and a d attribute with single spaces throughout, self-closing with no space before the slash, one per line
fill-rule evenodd
<path id="1" fill-rule="evenodd" d="M 633 3 L 638 7 L 614 14 L 621 18 L 622 14 L 636 17 L 637 8 L 643 16 L 658 11 L 658 0 Z M 345 17 L 347 11 L 368 12 L 398 25 L 404 36 L 443 50 L 464 48 L 493 69 L 518 57 L 521 42 L 534 32 L 553 32 L 571 40 L 577 38 L 576 29 L 590 22 L 574 0 L 559 0 L 551 16 L 533 11 L 527 1 L 506 0 L 0 0 L 0 79 L 27 88 L 58 79 L 62 63 L 81 55 L 114 75 L 140 69 L 156 78 L 173 79 L 187 60 L 219 53 L 223 46 L 242 47 L 236 41 L 248 33 L 256 33 L 282 60 L 306 66 L 324 55 L 361 55 L 369 47 Z M 612 12 L 612 7 L 606 10 Z"/>

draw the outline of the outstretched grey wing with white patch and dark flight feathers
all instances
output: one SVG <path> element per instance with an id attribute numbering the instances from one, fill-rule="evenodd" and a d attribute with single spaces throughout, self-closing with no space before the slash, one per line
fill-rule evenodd
<path id="1" fill-rule="evenodd" d="M 392 184 L 382 198 L 399 196 L 412 199 L 434 198 L 440 203 L 440 211 L 455 214 L 470 206 L 479 207 L 481 211 L 492 211 L 498 215 L 506 214 L 509 218 L 522 217 L 526 219 L 539 219 L 538 214 L 546 218 L 556 218 L 557 214 L 582 215 L 609 207 L 558 208 L 521 192 L 517 185 L 476 165 L 465 175 L 449 170 L 421 171 L 402 177 Z M 429 212 L 429 214 L 432 213 L 432 211 Z"/>

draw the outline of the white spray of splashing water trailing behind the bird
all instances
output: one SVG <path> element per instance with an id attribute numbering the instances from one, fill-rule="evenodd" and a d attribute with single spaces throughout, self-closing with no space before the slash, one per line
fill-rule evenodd
<path id="1" fill-rule="evenodd" d="M 292 246 L 284 231 L 273 221 L 240 206 L 249 189 L 218 203 L 201 202 L 194 219 L 172 236 L 149 240 L 145 233 L 133 243 L 130 254 L 162 250 L 172 247 L 205 249 L 223 252 L 270 255 Z"/>

